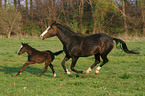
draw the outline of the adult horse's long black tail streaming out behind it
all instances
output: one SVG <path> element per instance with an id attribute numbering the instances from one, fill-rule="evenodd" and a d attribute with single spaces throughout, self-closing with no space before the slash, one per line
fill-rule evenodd
<path id="1" fill-rule="evenodd" d="M 121 43 L 122 49 L 123 49 L 124 52 L 126 52 L 126 53 L 131 53 L 131 54 L 140 54 L 140 52 L 138 52 L 138 49 L 129 50 L 129 49 L 127 48 L 126 43 L 125 43 L 123 40 L 117 39 L 117 38 L 113 38 L 113 40 L 115 40 L 116 44 Z"/>

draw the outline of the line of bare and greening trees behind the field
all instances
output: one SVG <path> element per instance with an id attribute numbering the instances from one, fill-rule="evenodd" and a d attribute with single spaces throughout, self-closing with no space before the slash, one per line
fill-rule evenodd
<path id="1" fill-rule="evenodd" d="M 1 36 L 39 36 L 53 21 L 83 34 L 145 36 L 145 0 L 0 0 Z"/>

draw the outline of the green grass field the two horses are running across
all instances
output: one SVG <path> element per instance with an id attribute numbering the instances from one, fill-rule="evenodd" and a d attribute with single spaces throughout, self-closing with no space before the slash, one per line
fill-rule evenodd
<path id="1" fill-rule="evenodd" d="M 38 77 L 44 64 L 31 65 L 13 78 L 27 60 L 26 53 L 17 55 L 21 42 L 38 50 L 62 49 L 57 38 L 0 38 L 0 96 L 145 96 L 145 40 L 126 40 L 129 49 L 141 48 L 140 55 L 126 54 L 114 47 L 108 55 L 109 63 L 98 75 L 96 67 L 88 75 L 72 71 L 72 76 L 67 75 L 61 66 L 63 53 L 52 62 L 55 78 L 50 68 Z M 86 71 L 93 62 L 93 56 L 80 58 L 76 69 Z M 70 63 L 71 60 L 66 63 L 68 69 Z"/>

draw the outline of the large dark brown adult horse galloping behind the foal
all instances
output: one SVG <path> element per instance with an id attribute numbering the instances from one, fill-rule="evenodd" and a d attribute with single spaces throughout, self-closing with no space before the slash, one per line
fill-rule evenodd
<path id="1" fill-rule="evenodd" d="M 71 75 L 71 72 L 68 71 L 65 67 L 65 62 L 72 58 L 71 70 L 76 73 L 84 73 L 83 71 L 78 71 L 75 69 L 75 64 L 79 57 L 87 57 L 94 55 L 95 63 L 92 64 L 86 74 L 89 74 L 98 63 L 100 63 L 100 57 L 103 59 L 103 62 L 96 69 L 96 74 L 99 73 L 101 67 L 108 62 L 107 55 L 111 52 L 114 47 L 113 40 L 116 43 L 121 43 L 122 49 L 126 53 L 139 54 L 137 51 L 128 50 L 127 45 L 121 39 L 110 37 L 104 33 L 97 33 L 91 35 L 82 35 L 77 34 L 66 26 L 63 26 L 59 23 L 52 23 L 41 35 L 41 39 L 48 37 L 57 36 L 63 44 L 63 49 L 65 52 L 65 57 L 62 61 L 62 66 L 64 71 L 67 74 Z"/>

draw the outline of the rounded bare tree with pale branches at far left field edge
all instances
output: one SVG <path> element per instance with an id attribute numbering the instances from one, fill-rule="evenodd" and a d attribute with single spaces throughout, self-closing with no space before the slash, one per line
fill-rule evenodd
<path id="1" fill-rule="evenodd" d="M 17 10 L 0 10 L 1 33 L 11 37 L 11 33 L 18 34 L 21 30 L 21 14 Z"/>

